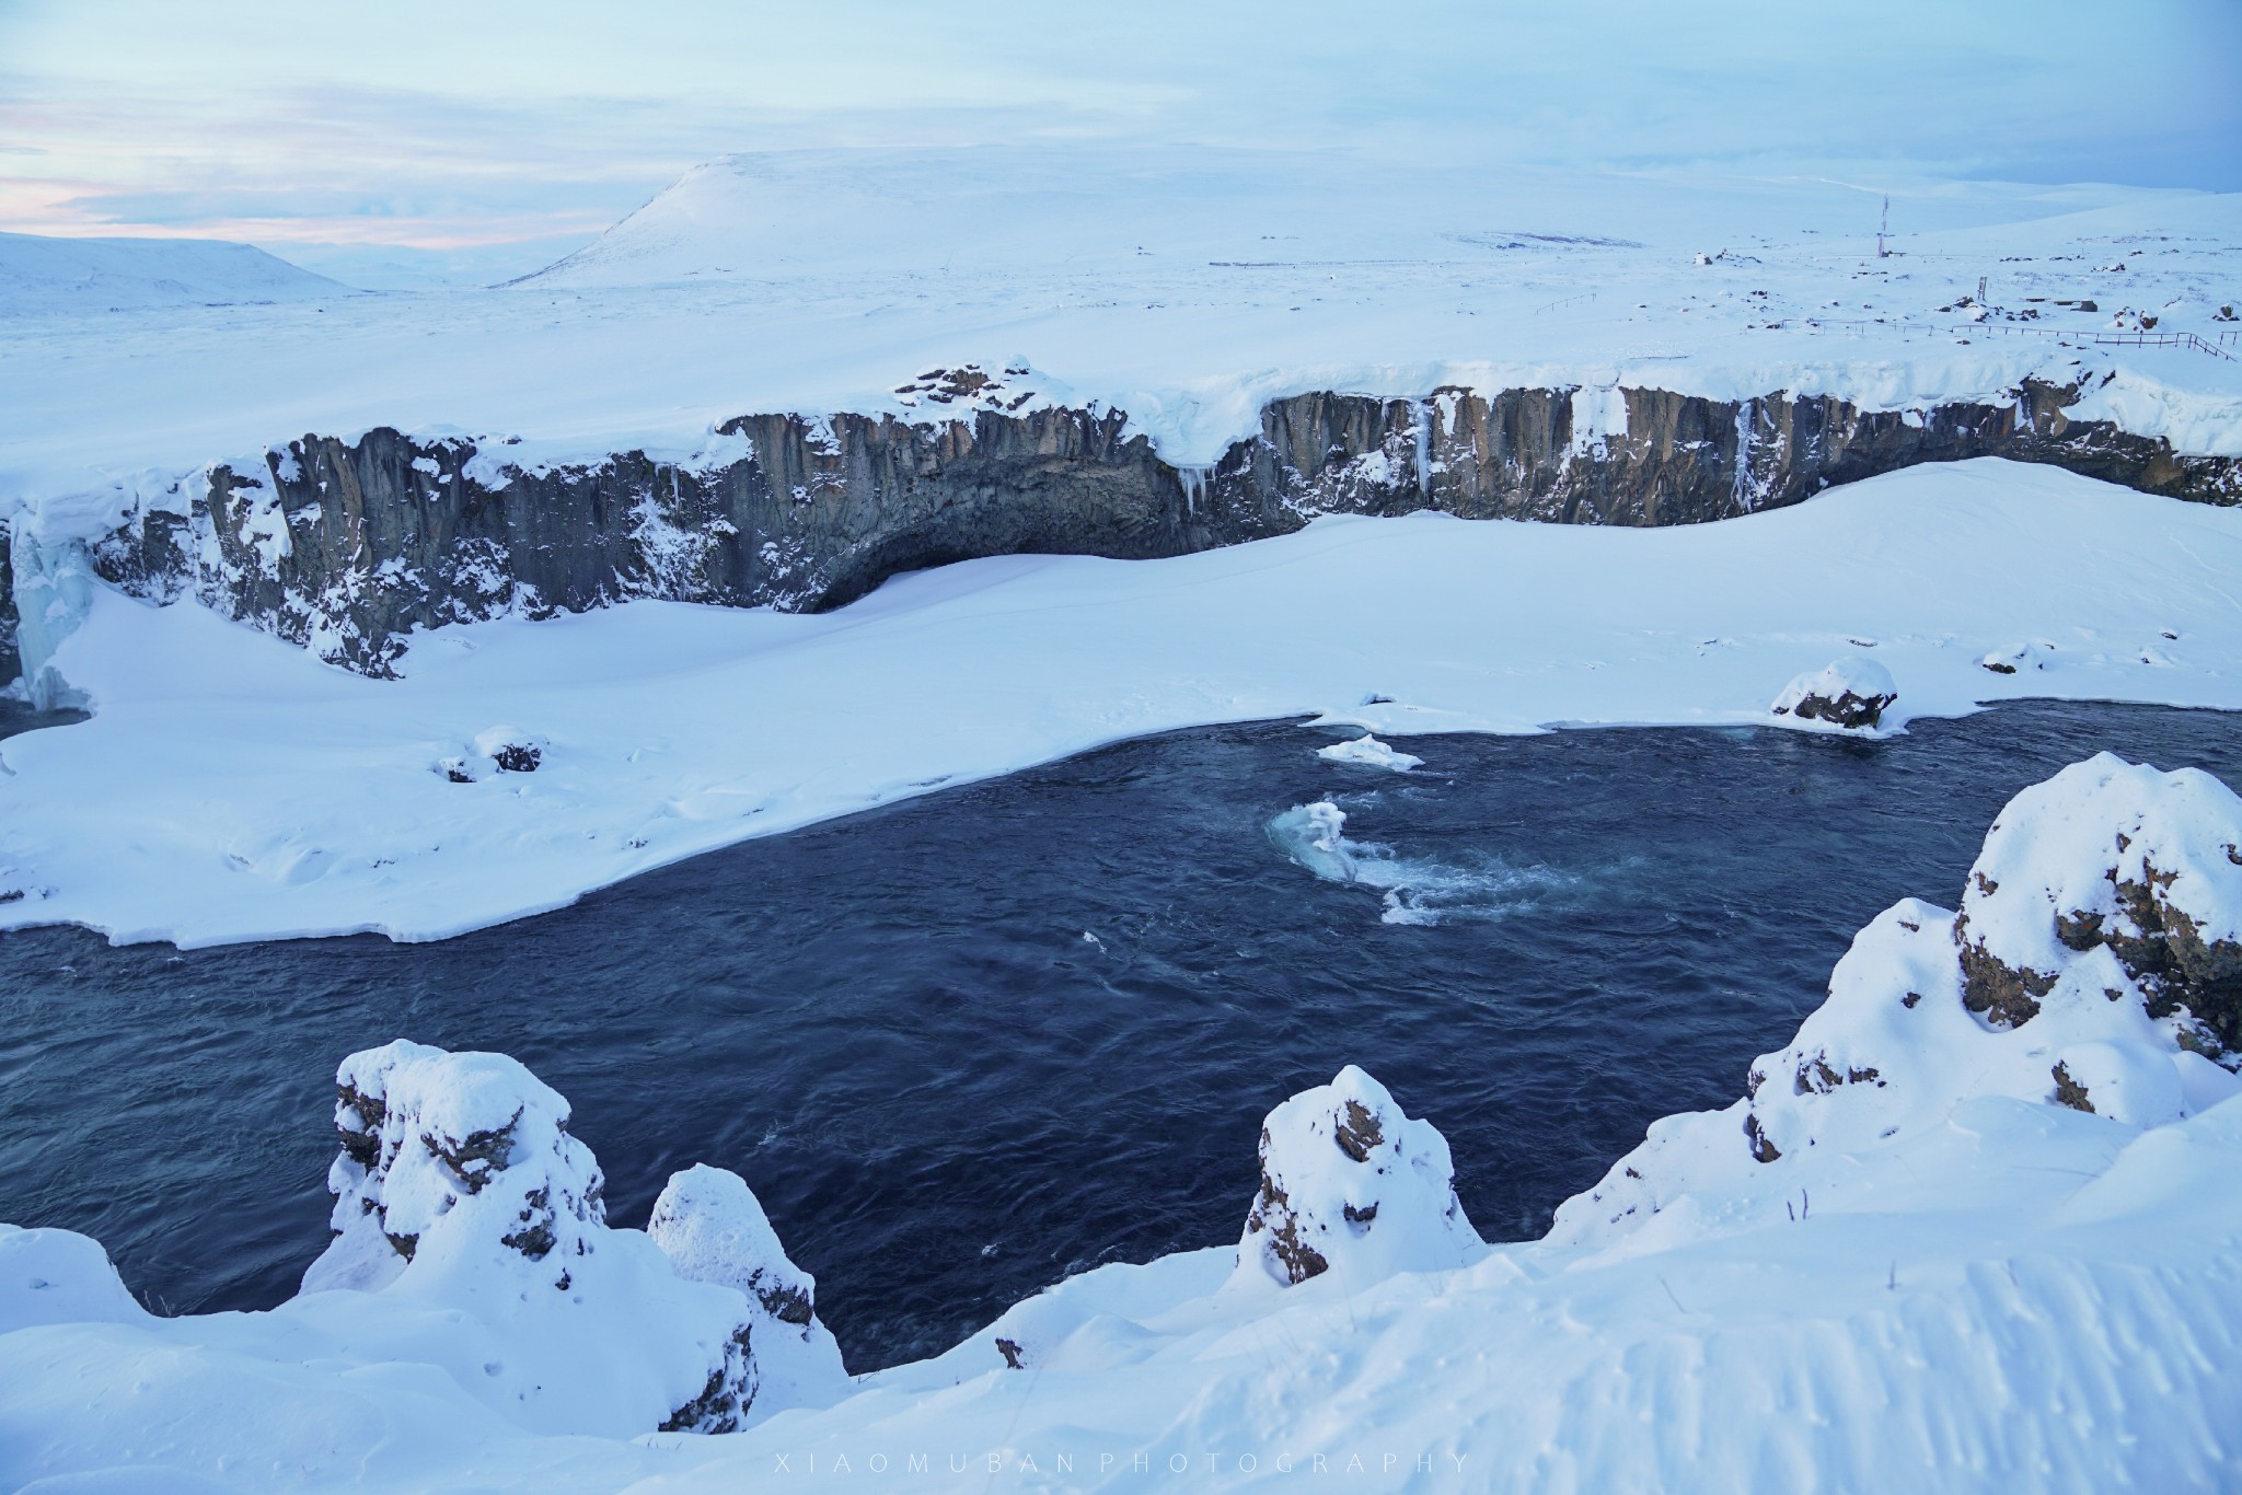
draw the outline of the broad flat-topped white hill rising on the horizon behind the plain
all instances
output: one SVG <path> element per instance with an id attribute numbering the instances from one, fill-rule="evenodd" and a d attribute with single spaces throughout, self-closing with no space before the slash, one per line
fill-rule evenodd
<path id="1" fill-rule="evenodd" d="M 1955 191 L 1906 182 L 1906 233 L 2146 206 L 2130 188 Z M 626 287 L 995 267 L 1143 278 L 1179 267 L 1321 264 L 1379 280 L 1399 262 L 1493 269 L 1558 256 L 1605 278 L 1755 238 L 1872 249 L 1879 197 L 1827 177 L 1554 170 L 1471 159 L 1374 159 L 1217 148 L 785 150 L 695 166 L 599 240 L 522 287 Z M 1182 262 L 1182 264 L 1179 264 Z M 1247 276 L 1251 280 L 1251 276 Z"/>

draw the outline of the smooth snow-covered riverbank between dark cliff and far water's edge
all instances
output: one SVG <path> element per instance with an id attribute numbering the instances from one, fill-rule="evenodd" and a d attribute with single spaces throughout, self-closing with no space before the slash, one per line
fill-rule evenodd
<path id="1" fill-rule="evenodd" d="M 1973 462 L 1682 529 L 1334 518 L 978 560 L 818 616 L 457 625 L 397 681 L 94 587 L 56 652 L 94 719 L 0 744 L 0 926 L 437 939 L 1121 737 L 1794 722 L 1782 684 L 1852 654 L 1903 690 L 1886 731 L 2009 695 L 2242 708 L 2233 576 L 2242 511 Z M 1980 666 L 2016 641 L 2036 668 Z"/>

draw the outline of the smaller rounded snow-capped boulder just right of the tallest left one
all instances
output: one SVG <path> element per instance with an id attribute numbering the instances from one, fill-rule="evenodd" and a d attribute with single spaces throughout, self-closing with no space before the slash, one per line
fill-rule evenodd
<path id="1" fill-rule="evenodd" d="M 847 1394 L 841 1347 L 816 1316 L 816 1278 L 787 1260 L 747 1179 L 695 1163 L 670 1174 L 646 1235 L 686 1282 L 744 1293 L 758 1410 L 814 1405 Z"/>

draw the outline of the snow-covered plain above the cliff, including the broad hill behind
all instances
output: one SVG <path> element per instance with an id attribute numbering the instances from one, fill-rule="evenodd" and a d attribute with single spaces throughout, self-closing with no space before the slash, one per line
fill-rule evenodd
<path id="1" fill-rule="evenodd" d="M 1877 258 L 1886 191 L 1897 253 Z M 724 157 L 500 289 L 0 318 L 0 520 L 87 533 L 305 433 L 518 437 L 502 455 L 536 464 L 688 459 L 713 424 L 765 410 L 937 419 L 899 390 L 960 363 L 1025 363 L 1038 399 L 1125 410 L 1177 466 L 1305 390 L 1625 383 L 1908 410 L 2000 403 L 2027 374 L 2085 381 L 2078 417 L 2242 453 L 2242 363 L 2092 341 L 2141 314 L 2233 332 L 2217 316 L 2242 305 L 2238 251 L 2242 195 L 1890 166 Z"/>

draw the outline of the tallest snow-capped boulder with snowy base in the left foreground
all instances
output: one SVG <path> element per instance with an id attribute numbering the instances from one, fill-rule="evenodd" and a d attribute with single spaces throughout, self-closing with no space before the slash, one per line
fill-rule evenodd
<path id="1" fill-rule="evenodd" d="M 345 1058 L 336 1094 L 336 1237 L 285 1313 L 439 1365 L 540 1432 L 729 1432 L 771 1410 L 767 1309 L 610 1228 L 567 1101 L 520 1062 L 399 1040 Z"/>

